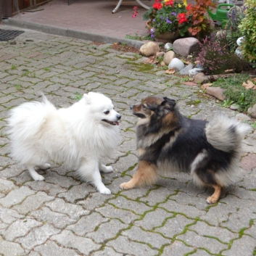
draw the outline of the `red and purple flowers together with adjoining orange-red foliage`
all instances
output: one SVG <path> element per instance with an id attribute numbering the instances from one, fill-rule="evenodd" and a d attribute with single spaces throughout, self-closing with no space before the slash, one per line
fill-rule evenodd
<path id="1" fill-rule="evenodd" d="M 205 16 L 210 7 L 215 7 L 212 0 L 196 0 L 196 4 L 188 6 L 173 0 L 155 0 L 143 18 L 151 22 L 152 38 L 161 33 L 178 30 L 181 36 L 202 39 L 211 31 L 210 21 Z"/>

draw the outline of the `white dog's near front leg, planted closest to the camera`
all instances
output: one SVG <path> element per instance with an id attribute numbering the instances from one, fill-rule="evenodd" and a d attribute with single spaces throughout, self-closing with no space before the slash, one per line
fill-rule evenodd
<path id="1" fill-rule="evenodd" d="M 102 176 L 99 173 L 99 162 L 96 160 L 83 160 L 80 168 L 78 168 L 78 174 L 85 180 L 90 182 L 96 187 L 101 194 L 111 194 L 110 189 L 102 183 Z"/>

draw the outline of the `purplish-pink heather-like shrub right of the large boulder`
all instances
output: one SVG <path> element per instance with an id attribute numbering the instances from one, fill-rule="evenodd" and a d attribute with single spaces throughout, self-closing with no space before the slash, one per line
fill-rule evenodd
<path id="1" fill-rule="evenodd" d="M 198 54 L 197 61 L 204 68 L 207 75 L 225 73 L 225 70 L 234 70 L 240 73 L 247 68 L 247 62 L 240 59 L 228 48 L 226 32 L 222 31 L 219 35 L 206 37 Z"/>

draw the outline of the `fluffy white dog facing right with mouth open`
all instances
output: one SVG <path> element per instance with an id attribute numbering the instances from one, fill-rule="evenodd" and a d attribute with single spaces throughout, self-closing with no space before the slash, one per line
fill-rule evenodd
<path id="1" fill-rule="evenodd" d="M 102 194 L 111 194 L 102 183 L 99 170 L 119 143 L 118 120 L 121 115 L 103 94 L 89 92 L 70 107 L 59 110 L 44 96 L 43 102 L 26 102 L 11 110 L 8 119 L 12 157 L 25 164 L 35 181 L 44 181 L 35 168 L 50 168 L 47 162 L 65 162 L 76 168 L 83 180 Z"/>

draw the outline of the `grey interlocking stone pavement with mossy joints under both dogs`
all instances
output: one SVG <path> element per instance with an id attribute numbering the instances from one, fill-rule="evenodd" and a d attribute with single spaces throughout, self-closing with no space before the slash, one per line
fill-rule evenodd
<path id="1" fill-rule="evenodd" d="M 137 164 L 131 104 L 160 94 L 177 99 L 181 112 L 192 118 L 235 112 L 109 44 L 29 30 L 15 42 L 0 42 L 0 255 L 255 255 L 255 131 L 244 141 L 239 181 L 223 191 L 218 204 L 207 205 L 212 190 L 197 188 L 185 174 L 160 178 L 155 186 L 119 189 Z M 33 181 L 9 157 L 8 111 L 38 99 L 40 91 L 58 107 L 85 92 L 102 92 L 123 115 L 123 139 L 106 160 L 115 169 L 104 174 L 110 196 L 62 166 L 42 172 L 45 181 Z"/>

